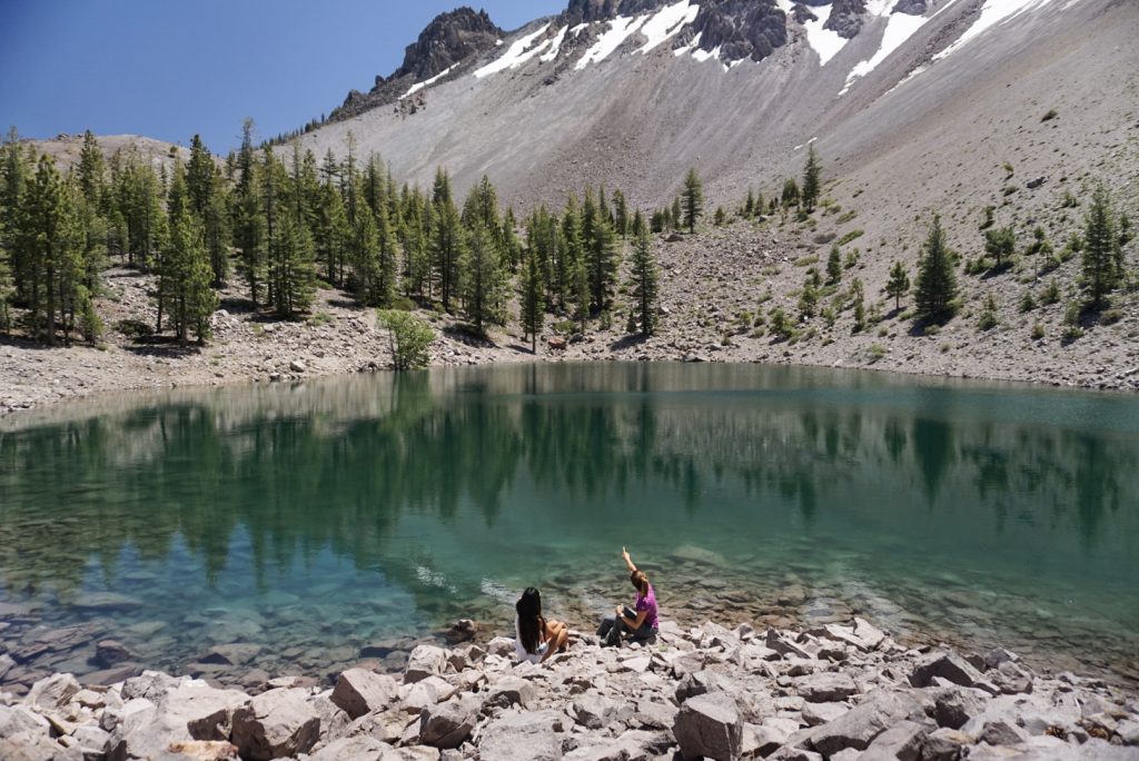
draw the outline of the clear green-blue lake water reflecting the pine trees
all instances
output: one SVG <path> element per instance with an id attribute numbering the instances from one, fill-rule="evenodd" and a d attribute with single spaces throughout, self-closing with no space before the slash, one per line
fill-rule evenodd
<path id="1" fill-rule="evenodd" d="M 506 633 L 528 584 L 590 628 L 630 591 L 622 545 L 674 619 L 859 614 L 1136 680 L 1139 399 L 606 363 L 9 418 L 0 681 L 93 671 L 107 637 L 219 677 L 194 664 L 233 643 L 271 674 L 394 668 L 458 617 Z"/>

